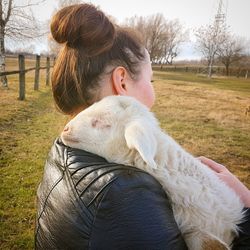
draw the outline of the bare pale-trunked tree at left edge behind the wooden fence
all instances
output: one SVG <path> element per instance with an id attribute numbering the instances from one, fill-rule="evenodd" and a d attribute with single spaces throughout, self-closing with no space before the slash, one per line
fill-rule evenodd
<path id="1" fill-rule="evenodd" d="M 5 40 L 22 41 L 33 39 L 40 34 L 31 7 L 45 0 L 0 0 L 0 72 L 5 72 Z M 2 85 L 8 87 L 6 76 L 0 78 Z"/>

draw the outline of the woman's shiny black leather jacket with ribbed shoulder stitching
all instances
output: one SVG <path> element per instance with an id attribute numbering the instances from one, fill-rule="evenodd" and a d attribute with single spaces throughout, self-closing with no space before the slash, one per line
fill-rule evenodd
<path id="1" fill-rule="evenodd" d="M 49 153 L 37 203 L 36 249 L 187 249 L 168 197 L 151 175 L 60 139 Z"/>

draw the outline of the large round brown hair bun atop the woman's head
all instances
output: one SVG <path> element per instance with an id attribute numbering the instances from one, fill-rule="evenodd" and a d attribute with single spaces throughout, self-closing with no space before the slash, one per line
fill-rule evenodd
<path id="1" fill-rule="evenodd" d="M 64 7 L 52 18 L 53 38 L 71 48 L 84 48 L 90 55 L 109 50 L 114 42 L 113 23 L 91 4 Z"/>

